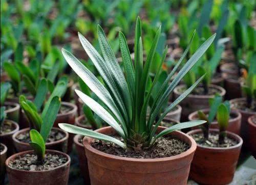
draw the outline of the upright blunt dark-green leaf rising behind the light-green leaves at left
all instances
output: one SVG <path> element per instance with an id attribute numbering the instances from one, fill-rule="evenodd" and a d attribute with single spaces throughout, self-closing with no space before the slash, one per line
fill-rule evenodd
<path id="1" fill-rule="evenodd" d="M 44 103 L 46 99 L 47 92 L 48 92 L 47 80 L 46 78 L 42 78 L 37 87 L 37 91 L 34 99 L 34 104 L 38 112 L 42 107 L 42 103 Z"/>

